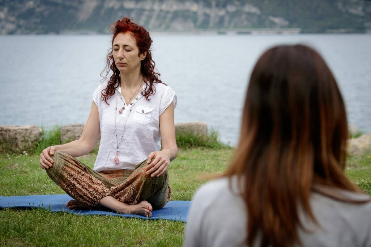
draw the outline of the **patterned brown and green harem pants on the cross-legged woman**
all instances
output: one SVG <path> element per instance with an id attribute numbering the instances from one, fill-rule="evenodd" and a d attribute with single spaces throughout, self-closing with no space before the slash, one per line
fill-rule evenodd
<path id="1" fill-rule="evenodd" d="M 82 203 L 100 206 L 103 197 L 112 196 L 127 204 L 146 200 L 155 210 L 170 200 L 168 172 L 160 177 L 147 175 L 147 160 L 137 164 L 135 170 L 98 173 L 65 153 L 55 152 L 52 158 L 53 166 L 46 173 L 69 196 Z"/>

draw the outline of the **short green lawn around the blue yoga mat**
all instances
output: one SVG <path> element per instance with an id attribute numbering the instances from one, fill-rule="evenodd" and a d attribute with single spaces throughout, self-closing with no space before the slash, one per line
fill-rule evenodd
<path id="1" fill-rule="evenodd" d="M 46 135 L 45 145 L 57 144 Z M 196 141 L 193 140 L 193 143 Z M 217 140 L 214 139 L 214 140 Z M 43 146 L 44 145 L 44 146 Z M 233 148 L 185 145 L 169 167 L 171 200 L 191 200 L 204 183 L 199 175 L 221 173 L 233 155 Z M 191 148 L 189 148 L 191 147 Z M 350 156 L 347 176 L 371 194 L 371 156 Z M 80 157 L 93 167 L 96 153 Z M 39 167 L 39 152 L 0 154 L 0 195 L 64 194 Z M 0 210 L 0 246 L 181 246 L 185 223 L 111 216 L 78 216 L 43 209 Z"/>

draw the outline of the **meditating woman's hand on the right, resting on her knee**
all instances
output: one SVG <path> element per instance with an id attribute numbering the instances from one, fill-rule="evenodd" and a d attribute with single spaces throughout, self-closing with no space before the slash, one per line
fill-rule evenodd
<path id="1" fill-rule="evenodd" d="M 170 165 L 170 150 L 163 149 L 150 153 L 147 157 L 147 174 L 151 174 L 151 177 L 160 177 Z"/>

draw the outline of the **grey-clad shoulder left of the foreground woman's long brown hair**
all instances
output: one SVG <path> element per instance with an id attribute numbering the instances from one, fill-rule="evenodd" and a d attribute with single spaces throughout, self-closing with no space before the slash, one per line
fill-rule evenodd
<path id="1" fill-rule="evenodd" d="M 243 242 L 246 206 L 235 187 L 235 177 L 224 177 L 197 190 L 188 214 L 185 246 L 239 246 Z"/>

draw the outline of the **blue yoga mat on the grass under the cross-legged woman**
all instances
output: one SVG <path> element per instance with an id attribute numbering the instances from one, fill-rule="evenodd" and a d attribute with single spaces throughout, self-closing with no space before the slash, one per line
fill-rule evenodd
<path id="1" fill-rule="evenodd" d="M 35 196 L 0 196 L 0 208 L 45 208 L 52 212 L 68 212 L 79 215 L 110 215 L 119 217 L 135 217 L 149 220 L 187 221 L 190 201 L 169 201 L 165 207 L 152 211 L 152 217 L 147 218 L 135 214 L 117 214 L 101 210 L 69 210 L 66 203 L 72 197 L 62 195 L 35 195 Z"/>

